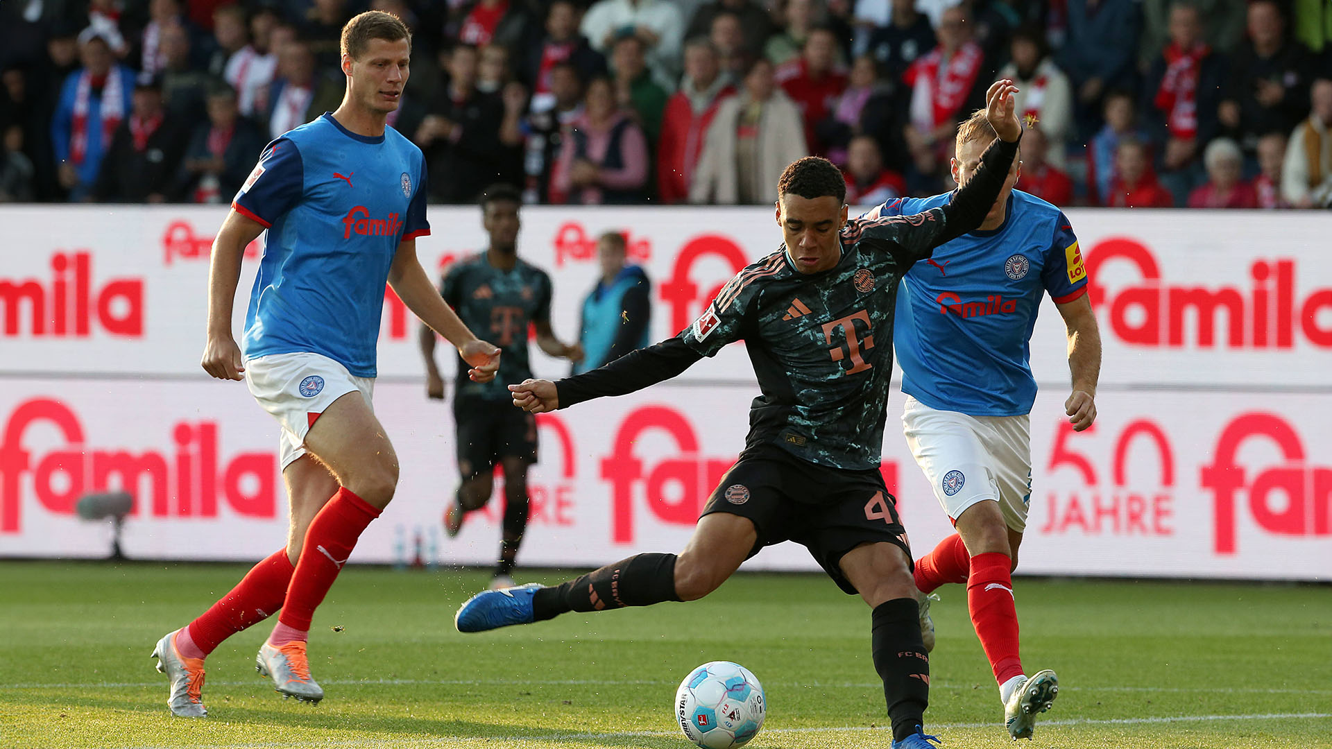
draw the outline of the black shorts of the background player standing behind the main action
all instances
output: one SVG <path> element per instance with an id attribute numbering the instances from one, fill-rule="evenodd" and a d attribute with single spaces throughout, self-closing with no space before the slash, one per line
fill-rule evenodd
<path id="1" fill-rule="evenodd" d="M 537 417 L 513 401 L 454 398 L 453 421 L 464 481 L 492 470 L 506 457 L 537 462 Z"/>

